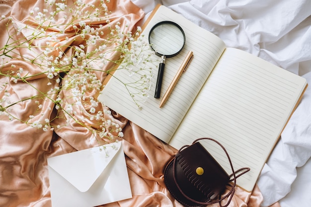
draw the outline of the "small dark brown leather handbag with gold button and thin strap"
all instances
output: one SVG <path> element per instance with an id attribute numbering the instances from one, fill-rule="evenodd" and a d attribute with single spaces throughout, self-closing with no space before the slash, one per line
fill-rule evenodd
<path id="1" fill-rule="evenodd" d="M 220 166 L 199 140 L 209 139 L 218 143 L 225 151 L 232 169 L 232 175 Z M 235 191 L 236 178 L 248 172 L 249 168 L 236 171 L 225 147 L 213 138 L 199 138 L 191 145 L 181 147 L 164 170 L 164 183 L 171 195 L 185 207 L 200 207 L 219 203 L 227 207 Z M 237 172 L 242 171 L 239 175 Z M 233 176 L 232 179 L 230 179 Z M 222 195 L 229 186 L 230 191 Z M 227 199 L 223 206 L 222 201 Z"/>

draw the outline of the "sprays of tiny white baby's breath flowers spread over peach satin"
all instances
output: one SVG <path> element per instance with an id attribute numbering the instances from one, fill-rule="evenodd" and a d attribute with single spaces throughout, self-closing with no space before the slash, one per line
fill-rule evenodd
<path id="1" fill-rule="evenodd" d="M 158 60 L 140 37 L 141 28 L 132 33 L 128 25 L 111 22 L 109 0 L 44 2 L 23 21 L 1 16 L 8 38 L 0 46 L 0 120 L 16 119 L 43 131 L 74 122 L 98 141 L 122 137 L 96 94 L 104 87 L 103 77 L 124 69 L 139 77 L 122 82 L 136 105 L 148 98 L 153 77 L 149 64 Z M 136 69 L 138 65 L 142 67 Z M 31 91 L 28 96 L 14 93 L 14 84 L 21 83 Z M 33 100 L 38 108 L 28 118 L 15 113 L 14 107 Z"/>

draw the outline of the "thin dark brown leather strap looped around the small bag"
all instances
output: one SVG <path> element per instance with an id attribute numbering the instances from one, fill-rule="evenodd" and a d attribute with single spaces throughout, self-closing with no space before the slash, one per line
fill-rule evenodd
<path id="1" fill-rule="evenodd" d="M 217 143 L 218 145 L 220 145 L 220 146 L 223 148 L 223 150 L 225 151 L 225 153 L 226 153 L 226 155 L 227 155 L 227 157 L 228 157 L 230 166 L 231 166 L 231 170 L 232 170 L 232 174 L 230 175 L 230 177 L 233 177 L 231 180 L 229 180 L 229 183 L 227 184 L 228 186 L 231 186 L 230 191 L 229 191 L 225 196 L 223 196 L 223 197 L 221 197 L 221 195 L 220 195 L 220 196 L 219 196 L 219 199 L 216 200 L 216 201 L 211 201 L 211 202 L 199 202 L 199 201 L 196 201 L 196 200 L 194 200 L 194 199 L 191 199 L 190 197 L 188 197 L 188 196 L 182 191 L 182 189 L 180 188 L 180 186 L 178 185 L 178 183 L 177 183 L 177 181 L 176 181 L 176 175 L 175 175 L 175 174 L 176 174 L 176 172 L 175 172 L 175 163 L 176 163 L 176 161 L 177 161 L 176 158 L 174 158 L 174 161 L 173 161 L 173 178 L 174 178 L 174 182 L 175 182 L 175 184 L 176 184 L 178 190 L 180 191 L 180 193 L 181 193 L 185 198 L 187 198 L 188 200 L 190 200 L 190 201 L 193 202 L 193 203 L 196 203 L 196 204 L 199 204 L 199 205 L 210 205 L 210 204 L 219 203 L 220 207 L 228 207 L 229 204 L 230 204 L 230 202 L 231 202 L 231 200 L 232 200 L 232 198 L 233 198 L 234 192 L 235 192 L 236 178 L 238 178 L 238 177 L 240 177 L 241 175 L 243 175 L 243 174 L 245 174 L 246 172 L 248 172 L 248 171 L 250 170 L 250 168 L 248 168 L 248 167 L 243 167 L 243 168 L 240 168 L 240 169 L 234 171 L 234 169 L 233 169 L 233 164 L 232 164 L 232 161 L 231 161 L 231 159 L 230 159 L 229 153 L 227 152 L 227 150 L 225 149 L 225 147 L 224 147 L 219 141 L 217 141 L 217 140 L 215 140 L 215 139 L 213 139 L 213 138 L 198 138 L 198 139 L 194 140 L 194 141 L 192 142 L 192 144 L 194 144 L 195 142 L 197 142 L 197 141 L 199 141 L 199 140 L 203 140 L 203 139 L 208 139 L 208 140 L 212 140 L 212 141 L 216 142 L 216 143 Z M 189 145 L 184 145 L 184 146 L 182 146 L 182 147 L 178 150 L 178 152 L 180 152 L 183 148 L 188 147 L 188 146 L 189 146 Z M 177 152 L 177 153 L 178 153 L 178 152 Z M 240 171 L 243 171 L 243 172 L 241 172 L 240 174 L 236 175 L 236 173 L 238 173 L 238 172 L 240 172 Z M 233 182 L 233 184 L 231 184 L 230 182 Z M 223 206 L 223 205 L 221 204 L 221 202 L 222 202 L 223 200 L 227 199 L 227 198 L 229 198 L 229 199 L 228 199 L 228 202 L 227 202 L 227 204 L 226 204 L 225 206 Z"/>

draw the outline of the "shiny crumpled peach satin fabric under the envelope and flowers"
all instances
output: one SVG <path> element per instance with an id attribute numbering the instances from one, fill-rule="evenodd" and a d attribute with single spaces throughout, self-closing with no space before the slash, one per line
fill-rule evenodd
<path id="1" fill-rule="evenodd" d="M 111 0 L 108 5 L 113 12 L 110 15 L 111 21 L 121 22 L 121 25 L 128 24 L 131 30 L 144 15 L 143 11 L 130 0 Z M 1 15 L 11 15 L 15 21 L 22 23 L 26 21 L 29 10 L 34 6 L 42 6 L 41 0 L 19 0 L 15 3 L 2 0 L 0 1 L 0 12 Z M 3 29 L 5 23 L 5 20 L 0 20 L 0 47 L 3 47 L 7 40 L 7 33 Z M 105 24 L 105 22 L 96 22 L 96 24 Z M 67 31 L 66 35 L 71 38 L 74 33 Z M 40 45 L 42 42 L 34 44 Z M 19 52 L 21 56 L 32 56 L 27 50 L 20 50 Z M 29 73 L 39 71 L 33 65 L 20 60 L 16 60 L 14 64 L 17 69 L 23 67 Z M 2 71 L 5 69 L 11 68 L 4 65 Z M 106 77 L 105 73 L 97 73 L 96 75 L 101 81 L 104 81 Z M 12 83 L 6 77 L 0 76 L 0 82 L 6 81 L 9 82 L 7 90 L 14 94 L 11 97 L 12 101 L 38 93 L 22 82 Z M 46 90 L 47 78 L 36 76 L 32 83 L 44 91 Z M 70 96 L 67 92 L 63 92 L 62 95 L 63 97 Z M 90 93 L 89 95 L 94 94 Z M 41 101 L 43 104 L 42 118 L 50 119 L 53 116 L 53 110 L 48 111 L 47 108 L 53 109 L 54 105 L 51 102 Z M 16 117 L 24 119 L 34 114 L 37 109 L 37 104 L 30 100 L 14 106 L 12 113 Z M 77 116 L 86 116 L 80 110 L 77 113 Z M 41 114 L 39 113 L 38 116 Z M 124 138 L 122 139 L 124 140 L 124 152 L 133 199 L 107 204 L 105 207 L 180 207 L 181 205 L 170 196 L 163 182 L 163 169 L 177 150 L 117 113 L 112 113 L 112 116 L 123 128 Z M 66 120 L 55 120 L 54 122 L 56 125 L 64 126 Z M 51 207 L 47 158 L 89 148 L 97 144 L 91 132 L 75 122 L 69 123 L 67 127 L 43 132 L 40 129 L 27 127 L 19 121 L 8 121 L 1 117 L 0 207 Z M 261 193 L 257 187 L 252 193 L 236 188 L 230 207 L 259 207 L 261 201 Z"/>

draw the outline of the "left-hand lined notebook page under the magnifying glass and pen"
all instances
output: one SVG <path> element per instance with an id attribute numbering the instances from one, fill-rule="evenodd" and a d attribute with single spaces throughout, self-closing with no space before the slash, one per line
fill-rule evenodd
<path id="1" fill-rule="evenodd" d="M 153 19 L 143 31 L 147 41 L 152 26 L 163 20 L 171 20 L 179 24 L 185 32 L 186 41 L 180 54 L 173 58 L 167 58 L 165 61 L 160 98 L 154 98 L 157 63 L 153 66 L 155 77 L 153 87 L 149 91 L 150 97 L 145 103 L 142 103 L 142 110 L 135 105 L 124 85 L 113 77 L 98 99 L 157 138 L 168 142 L 225 50 L 225 44 L 217 36 L 164 6 L 158 8 Z M 193 60 L 186 72 L 181 75 L 164 106 L 159 108 L 160 100 L 189 50 L 193 51 Z M 156 55 L 154 58 L 159 59 Z M 133 78 L 137 78 L 136 76 L 130 77 L 124 70 L 117 70 L 114 75 L 125 82 L 133 82 Z"/>

